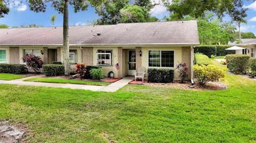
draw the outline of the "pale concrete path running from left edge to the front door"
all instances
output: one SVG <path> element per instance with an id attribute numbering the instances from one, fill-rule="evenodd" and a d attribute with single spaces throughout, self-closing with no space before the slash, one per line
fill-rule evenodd
<path id="1" fill-rule="evenodd" d="M 29 77 L 32 78 L 32 77 Z M 26 78 L 17 79 L 17 80 L 0 80 L 0 84 L 10 84 L 10 85 L 22 85 L 22 86 L 43 86 L 43 87 L 56 87 L 56 88 L 71 88 L 71 89 L 84 89 L 92 91 L 107 91 L 115 92 L 116 90 L 127 85 L 131 79 L 121 79 L 117 82 L 111 83 L 108 86 L 91 86 L 91 85 L 75 85 L 75 84 L 66 84 L 66 83 L 46 83 L 46 82 L 31 82 L 31 81 L 22 81 Z"/>

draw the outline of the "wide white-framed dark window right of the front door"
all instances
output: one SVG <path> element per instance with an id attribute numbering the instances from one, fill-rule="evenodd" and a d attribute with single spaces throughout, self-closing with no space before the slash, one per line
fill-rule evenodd
<path id="1" fill-rule="evenodd" d="M 148 51 L 148 66 L 174 68 L 174 51 Z"/>

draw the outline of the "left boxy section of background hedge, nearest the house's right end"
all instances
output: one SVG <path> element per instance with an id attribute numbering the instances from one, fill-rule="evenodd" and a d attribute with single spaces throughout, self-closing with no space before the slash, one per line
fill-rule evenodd
<path id="1" fill-rule="evenodd" d="M 194 53 L 202 53 L 208 57 L 211 57 L 211 55 L 216 54 L 216 47 L 215 46 L 197 46 L 194 48 Z"/>

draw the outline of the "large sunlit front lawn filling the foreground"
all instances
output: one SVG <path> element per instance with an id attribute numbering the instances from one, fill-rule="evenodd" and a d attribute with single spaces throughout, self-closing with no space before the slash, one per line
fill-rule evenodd
<path id="1" fill-rule="evenodd" d="M 128 85 L 114 93 L 0 85 L 0 120 L 23 124 L 27 142 L 255 142 L 256 81 L 225 82 L 219 91 Z"/>

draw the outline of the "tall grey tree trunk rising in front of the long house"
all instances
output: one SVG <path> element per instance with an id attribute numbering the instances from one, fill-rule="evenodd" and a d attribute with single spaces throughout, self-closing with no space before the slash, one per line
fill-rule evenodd
<path id="1" fill-rule="evenodd" d="M 69 75 L 69 42 L 68 42 L 68 0 L 65 0 L 63 12 L 63 49 L 65 75 Z"/>

